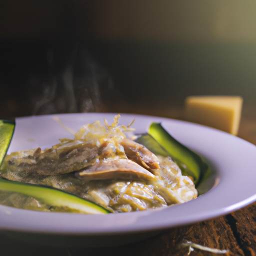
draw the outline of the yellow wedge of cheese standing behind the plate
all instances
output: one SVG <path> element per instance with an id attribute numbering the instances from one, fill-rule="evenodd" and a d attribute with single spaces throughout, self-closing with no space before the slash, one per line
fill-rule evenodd
<path id="1" fill-rule="evenodd" d="M 240 96 L 189 96 L 185 118 L 236 135 L 242 108 Z"/>

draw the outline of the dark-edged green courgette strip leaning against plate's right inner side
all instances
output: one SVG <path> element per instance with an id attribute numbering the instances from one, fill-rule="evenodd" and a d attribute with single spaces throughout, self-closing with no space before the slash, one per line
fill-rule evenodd
<path id="1" fill-rule="evenodd" d="M 179 165 L 184 164 L 184 167 L 190 170 L 194 184 L 198 184 L 201 176 L 207 169 L 207 164 L 202 158 L 174 139 L 160 123 L 152 122 L 147 133 L 151 135 L 174 160 L 176 159 Z"/>

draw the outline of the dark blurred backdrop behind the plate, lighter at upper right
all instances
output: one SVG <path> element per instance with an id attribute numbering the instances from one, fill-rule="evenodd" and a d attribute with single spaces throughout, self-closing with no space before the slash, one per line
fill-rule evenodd
<path id="1" fill-rule="evenodd" d="M 255 67 L 254 0 L 0 1 L 0 118 L 175 118 L 204 94 L 241 95 L 254 115 Z"/>

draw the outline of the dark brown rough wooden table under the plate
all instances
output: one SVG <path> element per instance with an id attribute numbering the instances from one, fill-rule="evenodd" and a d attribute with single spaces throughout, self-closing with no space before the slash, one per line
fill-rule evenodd
<path id="1" fill-rule="evenodd" d="M 133 107 L 131 107 L 133 105 Z M 162 109 L 130 102 L 116 102 L 109 112 L 134 112 L 161 115 L 182 119 L 182 107 L 172 106 Z M 256 144 L 256 118 L 252 110 L 243 111 L 238 136 Z M 217 249 L 229 249 L 225 255 L 256 255 L 256 203 L 242 209 L 207 221 L 163 230 L 158 235 L 144 241 L 107 248 L 64 248 L 47 247 L 14 240 L 0 235 L 0 255 L 42 255 L 42 256 L 85 256 L 85 255 L 140 255 L 165 256 L 187 255 L 188 247 L 180 245 L 185 241 Z M 199 249 L 190 255 L 216 255 Z"/>

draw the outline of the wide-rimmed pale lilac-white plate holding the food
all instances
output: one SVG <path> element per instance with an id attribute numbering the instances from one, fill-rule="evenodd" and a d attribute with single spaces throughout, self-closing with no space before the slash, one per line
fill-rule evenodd
<path id="1" fill-rule="evenodd" d="M 114 114 L 16 118 L 8 153 L 38 146 L 44 148 L 57 143 L 58 138 L 72 138 L 53 116 L 58 116 L 64 125 L 76 131 L 85 123 L 102 122 L 103 118 L 111 123 Z M 143 239 L 165 228 L 227 214 L 256 199 L 256 146 L 228 133 L 180 120 L 121 114 L 119 123 L 127 125 L 133 117 L 136 133 L 145 132 L 152 121 L 161 122 L 173 137 L 205 157 L 216 170 L 213 188 L 196 199 L 159 210 L 106 215 L 40 212 L 0 205 L 0 230 L 21 239 L 41 239 L 47 244 L 60 244 L 61 239 L 64 243 L 68 241 L 68 245 L 115 245 Z"/>

